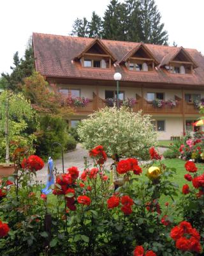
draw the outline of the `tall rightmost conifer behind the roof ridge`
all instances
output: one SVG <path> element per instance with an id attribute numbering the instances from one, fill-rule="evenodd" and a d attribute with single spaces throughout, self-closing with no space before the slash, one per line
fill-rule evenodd
<path id="1" fill-rule="evenodd" d="M 154 0 L 138 0 L 142 22 L 142 41 L 150 44 L 168 44 L 168 34 L 161 23 L 161 14 Z"/>

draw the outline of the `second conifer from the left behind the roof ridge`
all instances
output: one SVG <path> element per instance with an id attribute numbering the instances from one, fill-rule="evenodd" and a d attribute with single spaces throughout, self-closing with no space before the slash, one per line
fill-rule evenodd
<path id="1" fill-rule="evenodd" d="M 91 38 L 101 38 L 102 36 L 102 20 L 96 12 L 92 12 L 91 22 L 89 22 L 89 37 Z"/>

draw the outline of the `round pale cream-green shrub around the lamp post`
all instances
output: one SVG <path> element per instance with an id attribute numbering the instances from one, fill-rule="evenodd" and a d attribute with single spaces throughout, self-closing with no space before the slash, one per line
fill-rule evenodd
<path id="1" fill-rule="evenodd" d="M 126 108 L 104 108 L 82 120 L 78 127 L 85 148 L 102 145 L 109 155 L 147 159 L 149 148 L 156 145 L 157 133 L 149 115 Z"/>

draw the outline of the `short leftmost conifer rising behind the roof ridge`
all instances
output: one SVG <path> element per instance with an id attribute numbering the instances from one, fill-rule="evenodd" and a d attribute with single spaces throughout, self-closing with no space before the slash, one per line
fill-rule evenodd
<path id="1" fill-rule="evenodd" d="M 78 19 L 74 21 L 72 26 L 72 33 L 75 36 L 87 37 L 89 36 L 89 22 L 84 17 L 83 19 Z"/>

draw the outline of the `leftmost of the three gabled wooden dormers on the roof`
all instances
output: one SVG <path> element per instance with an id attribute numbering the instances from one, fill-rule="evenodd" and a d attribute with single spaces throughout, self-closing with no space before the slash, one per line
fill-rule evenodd
<path id="1" fill-rule="evenodd" d="M 74 60 L 80 61 L 84 68 L 111 68 L 111 65 L 117 61 L 112 52 L 98 38 L 92 40 L 91 44 L 87 45 Z"/>

